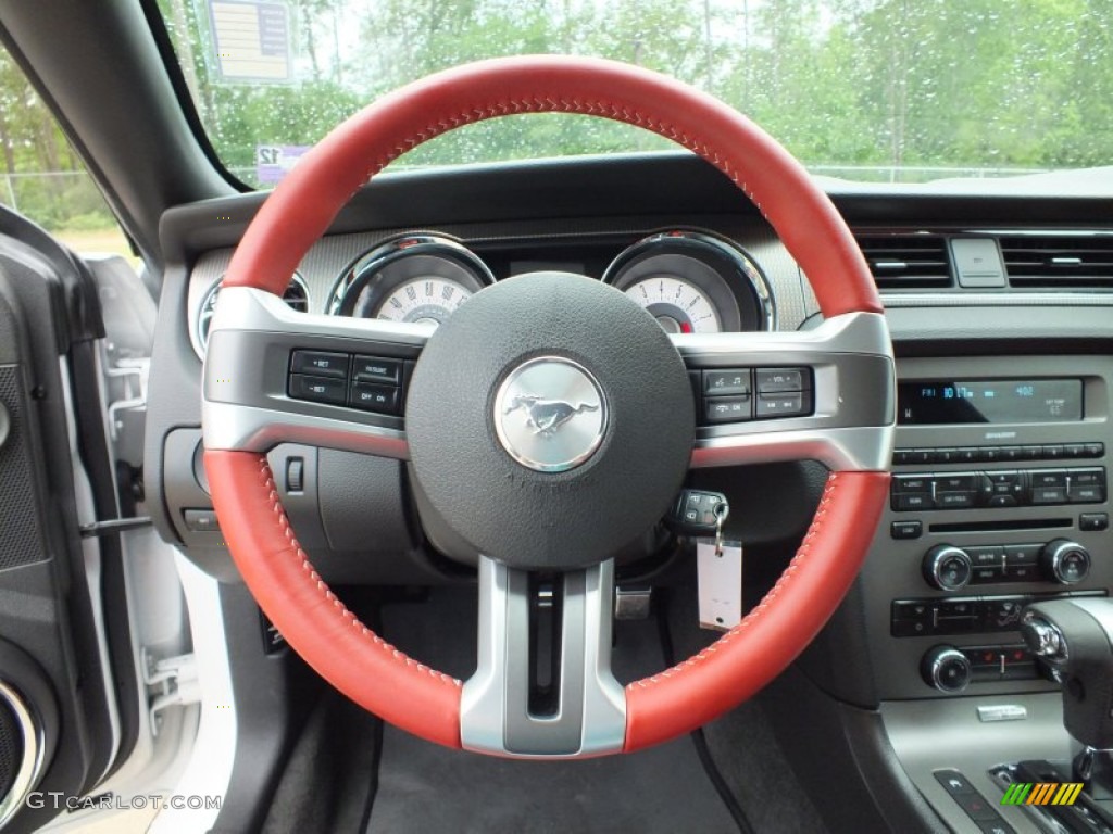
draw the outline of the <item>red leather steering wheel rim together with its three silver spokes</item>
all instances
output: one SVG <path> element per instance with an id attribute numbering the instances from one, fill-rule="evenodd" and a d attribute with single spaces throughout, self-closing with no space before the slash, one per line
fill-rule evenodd
<path id="1" fill-rule="evenodd" d="M 827 464 L 831 475 L 798 553 L 760 605 L 706 651 L 624 691 L 608 681 L 607 657 L 599 655 L 602 643 L 609 645 L 603 639 L 610 628 L 609 563 L 598 556 L 585 565 L 567 566 L 570 574 L 585 577 L 580 589 L 569 594 L 579 600 L 587 624 L 588 649 L 579 647 L 578 656 L 581 671 L 588 669 L 592 681 L 581 681 L 579 689 L 570 691 L 571 701 L 582 709 L 569 709 L 579 711 L 579 723 L 560 741 L 534 737 L 530 731 L 525 735 L 532 741 L 511 743 L 500 736 L 502 729 L 515 721 L 528 723 L 529 717 L 506 717 L 514 708 L 506 694 L 513 687 L 506 664 L 498 661 L 500 652 L 511 651 L 505 631 L 512 606 L 506 599 L 513 595 L 514 577 L 535 564 L 515 563 L 509 553 L 490 553 L 493 558 L 481 566 L 481 598 L 486 594 L 487 604 L 480 624 L 485 643 L 477 677 L 487 679 L 465 687 L 385 643 L 329 590 L 290 529 L 265 453 L 277 443 L 295 440 L 413 457 L 423 483 L 436 479 L 433 453 L 418 451 L 418 434 L 429 421 L 426 403 L 432 401 L 422 399 L 418 388 L 433 374 L 422 366 L 437 361 L 434 354 L 442 338 L 462 338 L 442 337 L 452 320 L 430 337 L 392 322 L 294 314 L 278 296 L 353 192 L 393 159 L 462 125 L 548 111 L 636 125 L 703 157 L 760 208 L 815 289 L 826 320 L 812 331 L 730 334 L 710 342 L 678 336 L 666 342 L 688 368 L 743 361 L 802 366 L 814 374 L 814 413 L 805 417 L 708 433 L 693 429 L 689 414 L 687 428 L 676 431 L 677 444 L 687 444 L 683 467 L 807 458 Z M 554 299 L 574 295 L 568 292 L 573 279 L 567 276 L 539 279 L 532 290 L 526 289 L 531 280 L 502 282 L 522 287 L 502 292 L 510 299 L 506 302 L 555 304 Z M 472 305 L 479 309 L 489 292 L 495 299 L 492 304 L 502 302 L 496 291 L 502 291 L 501 285 L 477 295 L 456 315 Z M 541 295 L 511 298 L 513 292 L 529 291 Z M 601 286 L 598 291 L 620 295 Z M 624 308 L 615 309 L 619 318 L 627 316 Z M 439 744 L 463 743 L 500 755 L 637 751 L 689 732 L 755 694 L 811 641 L 854 580 L 888 492 L 894 370 L 880 314 L 865 261 L 827 197 L 787 151 L 718 100 L 660 75 L 604 60 L 510 58 L 449 70 L 384 97 L 336 128 L 275 189 L 245 234 L 224 279 L 205 368 L 205 467 L 213 502 L 244 580 L 289 645 L 333 686 L 385 721 Z M 540 331 L 548 332 L 545 326 Z M 647 340 L 657 338 L 644 328 L 638 332 Z M 361 345 L 368 342 L 380 353 L 420 355 L 405 424 L 396 418 L 376 421 L 342 406 L 308 406 L 286 396 L 285 364 L 293 348 L 327 346 L 358 354 L 367 351 Z M 536 353 L 539 346 L 526 347 Z M 690 403 L 683 365 L 677 367 L 682 396 Z M 600 389 L 607 389 L 608 379 L 593 373 L 602 380 Z M 474 395 L 486 404 L 476 431 L 489 428 L 489 399 L 503 378 L 499 376 L 503 371 L 492 374 L 486 388 Z M 604 450 L 617 448 L 630 425 L 623 421 L 620 395 L 614 397 L 608 431 L 615 433 L 615 439 L 609 438 Z M 671 466 L 666 464 L 661 463 L 662 473 Z M 582 477 L 603 477 L 605 466 L 601 459 L 583 467 L 588 474 Z M 539 484 L 552 477 L 524 470 L 520 475 L 535 477 Z M 662 477 L 671 479 L 666 490 L 676 488 L 674 473 Z M 584 481 L 583 488 L 591 485 Z M 651 509 L 659 514 L 661 508 Z M 559 523 L 558 517 L 554 524 Z M 494 610 L 491 600 L 494 608 L 502 608 Z M 602 651 L 605 655 L 609 649 Z M 489 663 L 492 657 L 494 666 Z M 570 736 L 575 736 L 574 743 L 568 742 Z"/>

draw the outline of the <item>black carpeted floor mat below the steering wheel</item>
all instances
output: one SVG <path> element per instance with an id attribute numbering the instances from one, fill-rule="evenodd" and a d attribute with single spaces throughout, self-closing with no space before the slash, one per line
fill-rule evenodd
<path id="1" fill-rule="evenodd" d="M 451 674 L 474 668 L 474 595 L 384 610 L 386 636 Z M 621 682 L 663 667 L 657 625 L 619 623 Z M 449 751 L 387 727 L 367 827 L 408 832 L 737 834 L 690 738 L 629 756 L 521 762 Z"/>

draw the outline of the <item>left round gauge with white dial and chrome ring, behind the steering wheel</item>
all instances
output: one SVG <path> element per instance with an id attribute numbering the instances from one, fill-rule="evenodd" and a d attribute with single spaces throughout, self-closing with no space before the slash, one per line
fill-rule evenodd
<path id="1" fill-rule="evenodd" d="M 355 261 L 341 276 L 328 311 L 440 325 L 493 284 L 491 270 L 466 247 L 437 235 L 406 235 Z"/>

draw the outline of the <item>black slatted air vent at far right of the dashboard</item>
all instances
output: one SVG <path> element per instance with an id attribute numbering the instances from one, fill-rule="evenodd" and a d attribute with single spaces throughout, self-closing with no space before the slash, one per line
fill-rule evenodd
<path id="1" fill-rule="evenodd" d="M 1113 288 L 1113 236 L 1003 237 L 1001 254 L 1013 287 Z"/>

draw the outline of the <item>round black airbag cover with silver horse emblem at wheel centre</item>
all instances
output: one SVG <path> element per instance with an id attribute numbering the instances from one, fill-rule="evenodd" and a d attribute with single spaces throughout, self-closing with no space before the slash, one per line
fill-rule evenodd
<path id="1" fill-rule="evenodd" d="M 542 357 L 585 370 L 605 406 L 605 419 L 595 409 L 569 418 L 594 420 L 602 436 L 562 471 L 523 465 L 499 438 L 509 407 L 496 413 L 500 388 Z M 652 527 L 683 480 L 695 426 L 683 361 L 653 317 L 567 272 L 519 276 L 469 299 L 425 346 L 406 400 L 430 504 L 480 553 L 529 569 L 599 564 Z"/>

